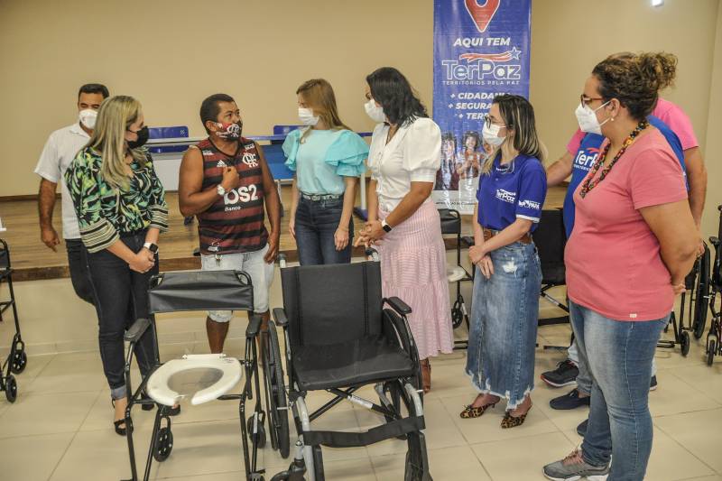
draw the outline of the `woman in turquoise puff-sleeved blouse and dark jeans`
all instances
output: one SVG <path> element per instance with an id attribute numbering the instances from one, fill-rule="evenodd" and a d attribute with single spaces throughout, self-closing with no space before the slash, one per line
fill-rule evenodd
<path id="1" fill-rule="evenodd" d="M 305 128 L 283 142 L 293 177 L 289 231 L 301 265 L 348 264 L 354 237 L 356 181 L 366 170 L 366 142 L 341 122 L 333 88 L 311 79 L 296 90 Z"/>

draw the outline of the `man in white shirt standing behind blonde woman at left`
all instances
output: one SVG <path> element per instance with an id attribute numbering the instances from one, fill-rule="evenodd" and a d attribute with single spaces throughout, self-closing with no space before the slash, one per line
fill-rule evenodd
<path id="1" fill-rule="evenodd" d="M 78 92 L 78 120 L 73 125 L 56 130 L 48 138 L 42 149 L 35 173 L 42 177 L 38 193 L 38 211 L 40 213 L 40 231 L 42 243 L 57 252 L 60 238 L 52 227 L 52 209 L 55 207 L 55 192 L 58 182 L 62 180 L 70 162 L 82 149 L 96 125 L 97 109 L 108 97 L 106 86 L 86 84 Z M 62 236 L 68 250 L 70 281 L 78 297 L 83 301 L 93 302 L 90 288 L 86 251 L 80 240 L 78 218 L 75 215 L 72 200 L 65 182 L 60 182 L 62 199 Z"/>

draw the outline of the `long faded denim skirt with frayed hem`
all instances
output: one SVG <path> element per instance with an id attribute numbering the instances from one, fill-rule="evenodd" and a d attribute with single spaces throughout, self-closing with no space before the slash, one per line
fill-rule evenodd
<path id="1" fill-rule="evenodd" d="M 534 387 L 534 350 L 542 268 L 533 244 L 515 242 L 491 254 L 494 274 L 477 268 L 468 334 L 467 375 L 481 393 L 516 408 Z"/>

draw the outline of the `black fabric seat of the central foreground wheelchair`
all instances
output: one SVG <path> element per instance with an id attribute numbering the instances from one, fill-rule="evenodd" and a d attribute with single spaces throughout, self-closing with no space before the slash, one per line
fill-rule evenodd
<path id="1" fill-rule="evenodd" d="M 384 338 L 353 339 L 322 349 L 293 349 L 293 368 L 301 391 L 364 385 L 398 377 L 411 377 L 411 358 Z"/>

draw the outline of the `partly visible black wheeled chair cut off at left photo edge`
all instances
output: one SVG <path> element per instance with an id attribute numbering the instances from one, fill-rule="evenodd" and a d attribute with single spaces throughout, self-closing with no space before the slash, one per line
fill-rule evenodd
<path id="1" fill-rule="evenodd" d="M 0 322 L 3 314 L 8 308 L 13 309 L 15 322 L 15 334 L 10 345 L 10 353 L 5 362 L 0 366 L 0 391 L 5 391 L 5 398 L 8 402 L 15 402 L 17 399 L 17 381 L 14 375 L 21 374 L 28 364 L 28 356 L 25 353 L 25 343 L 20 332 L 20 320 L 17 317 L 17 306 L 15 304 L 15 291 L 13 290 L 13 267 L 10 264 L 10 249 L 4 239 L 0 239 L 0 283 L 7 282 L 10 299 L 0 301 Z"/>

